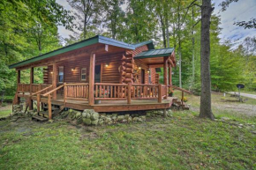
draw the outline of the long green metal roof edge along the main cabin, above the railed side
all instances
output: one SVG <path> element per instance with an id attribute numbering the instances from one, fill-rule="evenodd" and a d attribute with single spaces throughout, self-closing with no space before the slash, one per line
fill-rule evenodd
<path id="1" fill-rule="evenodd" d="M 51 51 L 49 53 L 46 53 L 46 54 L 43 54 L 43 55 L 38 55 L 38 56 L 35 56 L 33 58 L 27 59 L 27 60 L 19 62 L 19 63 L 11 64 L 11 65 L 9 65 L 9 69 L 17 68 L 17 67 L 26 65 L 28 63 L 38 62 L 38 61 L 41 61 L 43 59 L 49 58 L 51 56 L 60 55 L 60 54 L 63 54 L 65 52 L 72 51 L 72 50 L 78 49 L 78 48 L 87 47 L 87 46 L 90 46 L 90 45 L 93 45 L 93 44 L 96 44 L 96 43 L 102 43 L 102 44 L 116 46 L 116 47 L 119 47 L 119 48 L 127 48 L 127 49 L 132 49 L 132 50 L 134 50 L 135 48 L 139 48 L 140 46 L 143 46 L 143 45 L 147 45 L 147 47 L 149 49 L 154 49 L 153 41 L 144 41 L 144 42 L 140 42 L 138 44 L 128 44 L 128 43 L 125 43 L 125 42 L 122 42 L 122 41 L 116 41 L 114 39 L 104 37 L 102 35 L 96 35 L 92 38 L 89 38 L 89 39 L 84 40 L 84 41 L 79 41 L 77 43 L 66 46 L 64 48 L 58 48 L 58 49 L 56 49 L 54 51 Z"/>

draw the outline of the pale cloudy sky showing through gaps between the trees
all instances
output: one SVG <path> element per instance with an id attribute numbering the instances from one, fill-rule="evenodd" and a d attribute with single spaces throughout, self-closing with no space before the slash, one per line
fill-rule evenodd
<path id="1" fill-rule="evenodd" d="M 247 36 L 256 36 L 255 29 L 245 29 L 240 26 L 233 25 L 237 21 L 248 21 L 250 18 L 256 16 L 256 0 L 239 0 L 237 3 L 230 4 L 227 11 L 220 11 L 220 4 L 223 0 L 213 0 L 215 3 L 216 15 L 221 16 L 222 32 L 220 38 L 222 40 L 231 40 L 234 44 L 242 42 Z M 72 11 L 72 7 L 66 0 L 56 0 L 58 4 L 62 4 L 66 10 Z M 71 31 L 66 30 L 63 26 L 58 26 L 58 33 L 67 38 Z"/>

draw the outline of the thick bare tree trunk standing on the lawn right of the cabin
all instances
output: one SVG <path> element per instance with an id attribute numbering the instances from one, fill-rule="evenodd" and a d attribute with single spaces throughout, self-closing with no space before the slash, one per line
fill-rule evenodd
<path id="1" fill-rule="evenodd" d="M 211 106 L 210 76 L 210 18 L 214 10 L 211 0 L 203 0 L 201 6 L 201 97 L 200 117 L 214 120 Z"/>

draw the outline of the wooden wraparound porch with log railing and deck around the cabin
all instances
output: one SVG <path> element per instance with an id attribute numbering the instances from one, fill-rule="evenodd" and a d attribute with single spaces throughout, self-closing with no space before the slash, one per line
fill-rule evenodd
<path id="1" fill-rule="evenodd" d="M 56 89 L 52 85 L 19 84 L 17 97 L 40 103 L 63 105 L 73 109 L 94 109 L 96 112 L 117 112 L 169 108 L 176 98 L 166 97 L 165 85 L 94 84 L 94 100 L 89 104 L 89 84 L 64 84 Z M 53 93 L 56 92 L 56 97 Z M 159 95 L 160 94 L 160 95 Z"/>

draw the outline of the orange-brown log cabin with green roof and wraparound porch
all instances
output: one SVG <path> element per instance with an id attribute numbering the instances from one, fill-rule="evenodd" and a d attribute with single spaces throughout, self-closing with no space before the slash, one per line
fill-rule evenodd
<path id="1" fill-rule="evenodd" d="M 169 88 L 176 66 L 174 48 L 155 49 L 153 41 L 128 44 L 101 35 L 14 63 L 17 92 L 13 104 L 26 99 L 37 112 L 53 107 L 95 112 L 120 112 L 171 107 Z M 34 84 L 34 68 L 43 67 L 43 84 Z M 163 85 L 157 70 L 163 68 Z M 20 71 L 30 70 L 30 83 L 20 83 Z M 189 93 L 189 92 L 188 92 Z M 182 101 L 183 102 L 183 101 Z"/>

